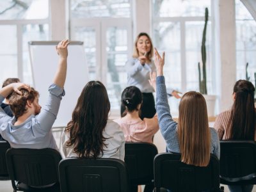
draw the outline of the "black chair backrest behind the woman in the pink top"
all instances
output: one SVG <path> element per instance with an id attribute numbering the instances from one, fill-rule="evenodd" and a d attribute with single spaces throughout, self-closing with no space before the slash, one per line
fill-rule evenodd
<path id="1" fill-rule="evenodd" d="M 125 164 L 132 185 L 148 184 L 154 180 L 156 145 L 152 143 L 125 143 Z"/>

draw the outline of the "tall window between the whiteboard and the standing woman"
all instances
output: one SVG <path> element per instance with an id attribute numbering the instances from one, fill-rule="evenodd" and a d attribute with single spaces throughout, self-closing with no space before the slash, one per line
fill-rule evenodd
<path id="1" fill-rule="evenodd" d="M 132 52 L 129 0 L 70 1 L 71 40 L 84 42 L 90 80 L 106 85 L 111 115 L 119 115 L 127 85 L 125 62 Z"/>

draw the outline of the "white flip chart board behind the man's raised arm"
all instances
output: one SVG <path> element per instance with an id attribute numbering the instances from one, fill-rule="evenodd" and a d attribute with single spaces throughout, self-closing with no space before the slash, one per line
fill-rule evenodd
<path id="1" fill-rule="evenodd" d="M 59 56 L 56 52 L 58 42 L 29 42 L 29 56 L 33 77 L 33 87 L 39 92 L 39 104 L 44 108 L 57 67 Z M 83 42 L 70 42 L 68 45 L 67 78 L 65 96 L 53 127 L 65 127 L 72 118 L 77 99 L 88 83 L 88 66 Z"/>

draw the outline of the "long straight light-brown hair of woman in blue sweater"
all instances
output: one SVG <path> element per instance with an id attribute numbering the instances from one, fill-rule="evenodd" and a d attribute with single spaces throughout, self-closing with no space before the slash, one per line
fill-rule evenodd
<path id="1" fill-rule="evenodd" d="M 178 137 L 181 161 L 207 166 L 211 153 L 211 133 L 207 106 L 201 93 L 185 93 L 179 105 Z"/>

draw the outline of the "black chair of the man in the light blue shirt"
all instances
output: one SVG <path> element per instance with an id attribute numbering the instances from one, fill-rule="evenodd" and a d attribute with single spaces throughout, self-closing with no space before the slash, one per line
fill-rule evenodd
<path id="1" fill-rule="evenodd" d="M 6 163 L 15 191 L 60 191 L 61 155 L 52 148 L 10 148 Z"/>

